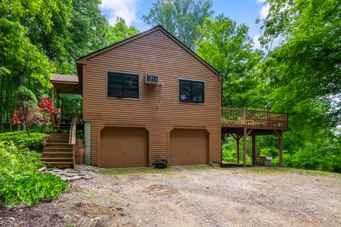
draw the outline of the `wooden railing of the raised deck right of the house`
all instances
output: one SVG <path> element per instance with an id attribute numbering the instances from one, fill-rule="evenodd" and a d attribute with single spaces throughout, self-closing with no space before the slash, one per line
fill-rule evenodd
<path id="1" fill-rule="evenodd" d="M 222 126 L 288 128 L 288 114 L 253 109 L 222 108 Z"/>

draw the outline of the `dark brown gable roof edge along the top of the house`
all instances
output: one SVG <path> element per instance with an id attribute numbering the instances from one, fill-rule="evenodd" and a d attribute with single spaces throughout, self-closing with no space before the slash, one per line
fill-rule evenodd
<path id="1" fill-rule="evenodd" d="M 169 38 L 171 38 L 175 43 L 177 43 L 178 45 L 180 45 L 180 47 L 182 47 L 184 50 L 186 50 L 188 53 L 190 53 L 190 55 L 193 55 L 193 57 L 195 57 L 197 60 L 199 60 L 200 62 L 202 62 L 203 65 L 205 65 L 207 68 L 209 68 L 212 72 L 214 72 L 215 74 L 217 74 L 217 76 L 219 77 L 219 79 L 223 79 L 222 75 L 220 74 L 220 72 L 218 72 L 217 70 L 215 70 L 214 67 L 212 67 L 210 64 L 208 64 L 207 62 L 205 62 L 205 60 L 203 60 L 201 57 L 199 57 L 195 52 L 193 52 L 192 50 L 190 50 L 190 48 L 188 48 L 185 44 L 183 44 L 180 40 L 178 40 L 177 38 L 175 38 L 171 33 L 169 33 L 165 28 L 163 28 L 162 26 L 156 26 L 155 28 L 151 28 L 148 31 L 145 31 L 143 33 L 139 33 L 137 35 L 132 36 L 131 38 L 127 38 L 125 40 L 121 40 L 118 43 L 114 43 L 112 45 L 109 45 L 106 48 L 102 48 L 100 50 L 97 50 L 95 52 L 91 52 L 88 55 L 85 55 L 83 57 L 80 57 L 76 60 L 76 65 L 77 65 L 77 71 L 78 71 L 78 75 L 80 76 L 80 80 L 82 79 L 82 72 L 80 72 L 80 65 L 86 64 L 87 60 L 90 59 L 91 57 L 95 57 L 97 55 L 102 54 L 102 52 L 107 52 L 109 50 L 112 50 L 114 48 L 119 47 L 120 45 L 124 45 L 126 43 L 129 43 L 133 40 L 136 40 L 138 38 L 143 37 L 144 35 L 148 35 L 149 33 L 153 33 L 155 31 L 162 31 L 164 34 L 166 34 Z"/>

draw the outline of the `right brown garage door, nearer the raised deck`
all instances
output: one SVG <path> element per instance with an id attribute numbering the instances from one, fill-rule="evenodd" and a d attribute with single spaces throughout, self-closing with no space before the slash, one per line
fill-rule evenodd
<path id="1" fill-rule="evenodd" d="M 170 165 L 208 163 L 208 133 L 198 129 L 174 129 L 171 132 Z"/>

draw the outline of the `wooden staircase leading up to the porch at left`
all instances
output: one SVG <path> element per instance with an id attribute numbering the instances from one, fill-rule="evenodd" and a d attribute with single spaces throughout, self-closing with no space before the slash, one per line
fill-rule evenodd
<path id="1" fill-rule="evenodd" d="M 53 133 L 46 140 L 43 158 L 46 167 L 73 168 L 73 150 L 69 145 L 70 134 Z"/>

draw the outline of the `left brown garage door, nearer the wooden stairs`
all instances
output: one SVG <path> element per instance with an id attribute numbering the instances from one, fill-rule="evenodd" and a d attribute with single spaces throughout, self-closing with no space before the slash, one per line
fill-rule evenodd
<path id="1" fill-rule="evenodd" d="M 145 128 L 104 128 L 100 158 L 101 167 L 148 166 L 148 131 Z"/>

